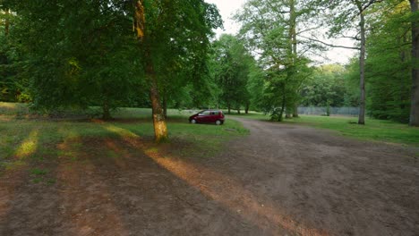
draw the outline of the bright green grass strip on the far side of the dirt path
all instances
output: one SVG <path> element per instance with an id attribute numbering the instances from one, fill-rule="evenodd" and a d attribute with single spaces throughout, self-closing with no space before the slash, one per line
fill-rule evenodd
<path id="1" fill-rule="evenodd" d="M 234 116 L 262 121 L 269 120 L 269 115 L 256 113 L 234 114 Z M 299 118 L 284 119 L 284 123 L 286 124 L 306 125 L 319 129 L 327 129 L 355 139 L 398 143 L 419 147 L 419 128 L 409 127 L 403 123 L 371 118 L 365 119 L 365 125 L 358 125 L 356 124 L 357 121 L 357 117 L 310 115 L 300 115 Z"/>

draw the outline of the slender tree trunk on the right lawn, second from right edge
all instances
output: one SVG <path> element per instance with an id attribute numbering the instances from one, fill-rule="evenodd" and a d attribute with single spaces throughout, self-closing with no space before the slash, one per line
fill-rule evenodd
<path id="1" fill-rule="evenodd" d="M 365 17 L 361 3 L 357 2 L 361 21 L 359 22 L 361 33 L 361 53 L 359 55 L 360 89 L 361 97 L 359 104 L 358 124 L 365 124 Z"/>

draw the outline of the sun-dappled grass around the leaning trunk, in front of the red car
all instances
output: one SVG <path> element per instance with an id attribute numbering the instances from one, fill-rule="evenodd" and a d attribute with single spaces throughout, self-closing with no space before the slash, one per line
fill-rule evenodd
<path id="1" fill-rule="evenodd" d="M 172 152 L 175 156 L 205 158 L 216 154 L 227 140 L 248 133 L 240 122 L 228 120 L 219 126 L 190 124 L 187 119 L 190 112 L 169 110 L 170 141 L 166 146 L 160 146 L 152 141 L 154 130 L 150 109 L 121 108 L 115 112 L 115 120 L 109 122 L 88 118 L 74 120 L 73 117 L 49 119 L 30 116 L 29 113 L 26 105 L 0 103 L 0 173 L 29 166 L 30 173 L 38 180 L 42 176 L 38 171 L 43 170 L 39 166 L 54 160 L 83 162 L 86 153 L 98 158 L 117 159 L 126 151 L 133 152 L 104 145 L 104 150 L 98 153 L 86 139 L 101 142 L 141 139 L 151 146 L 148 148 L 159 150 L 168 145 L 175 149 Z"/>

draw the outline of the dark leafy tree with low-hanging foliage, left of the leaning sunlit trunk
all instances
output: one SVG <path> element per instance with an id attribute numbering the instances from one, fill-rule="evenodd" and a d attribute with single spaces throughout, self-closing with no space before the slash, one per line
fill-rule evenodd
<path id="1" fill-rule="evenodd" d="M 100 105 L 103 117 L 125 103 L 141 82 L 131 60 L 136 46 L 124 4 L 108 1 L 8 1 L 16 13 L 11 35 L 27 56 L 34 107 Z M 130 59 L 130 61 L 128 61 Z M 127 63 L 132 62 L 132 63 Z"/>

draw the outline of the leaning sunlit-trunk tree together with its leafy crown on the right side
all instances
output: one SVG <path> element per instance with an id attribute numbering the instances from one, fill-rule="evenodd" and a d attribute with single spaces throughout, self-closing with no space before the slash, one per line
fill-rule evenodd
<path id="1" fill-rule="evenodd" d="M 185 57 L 204 55 L 209 46 L 212 29 L 221 25 L 217 8 L 202 0 L 133 0 L 133 25 L 141 46 L 147 81 L 155 138 L 157 142 L 168 139 L 164 109 L 159 94 L 158 67 L 165 67 L 165 52 L 177 47 L 186 51 Z M 173 58 L 172 55 L 169 60 Z M 177 57 L 177 59 L 180 59 Z M 160 71 L 161 72 L 161 71 Z"/>

